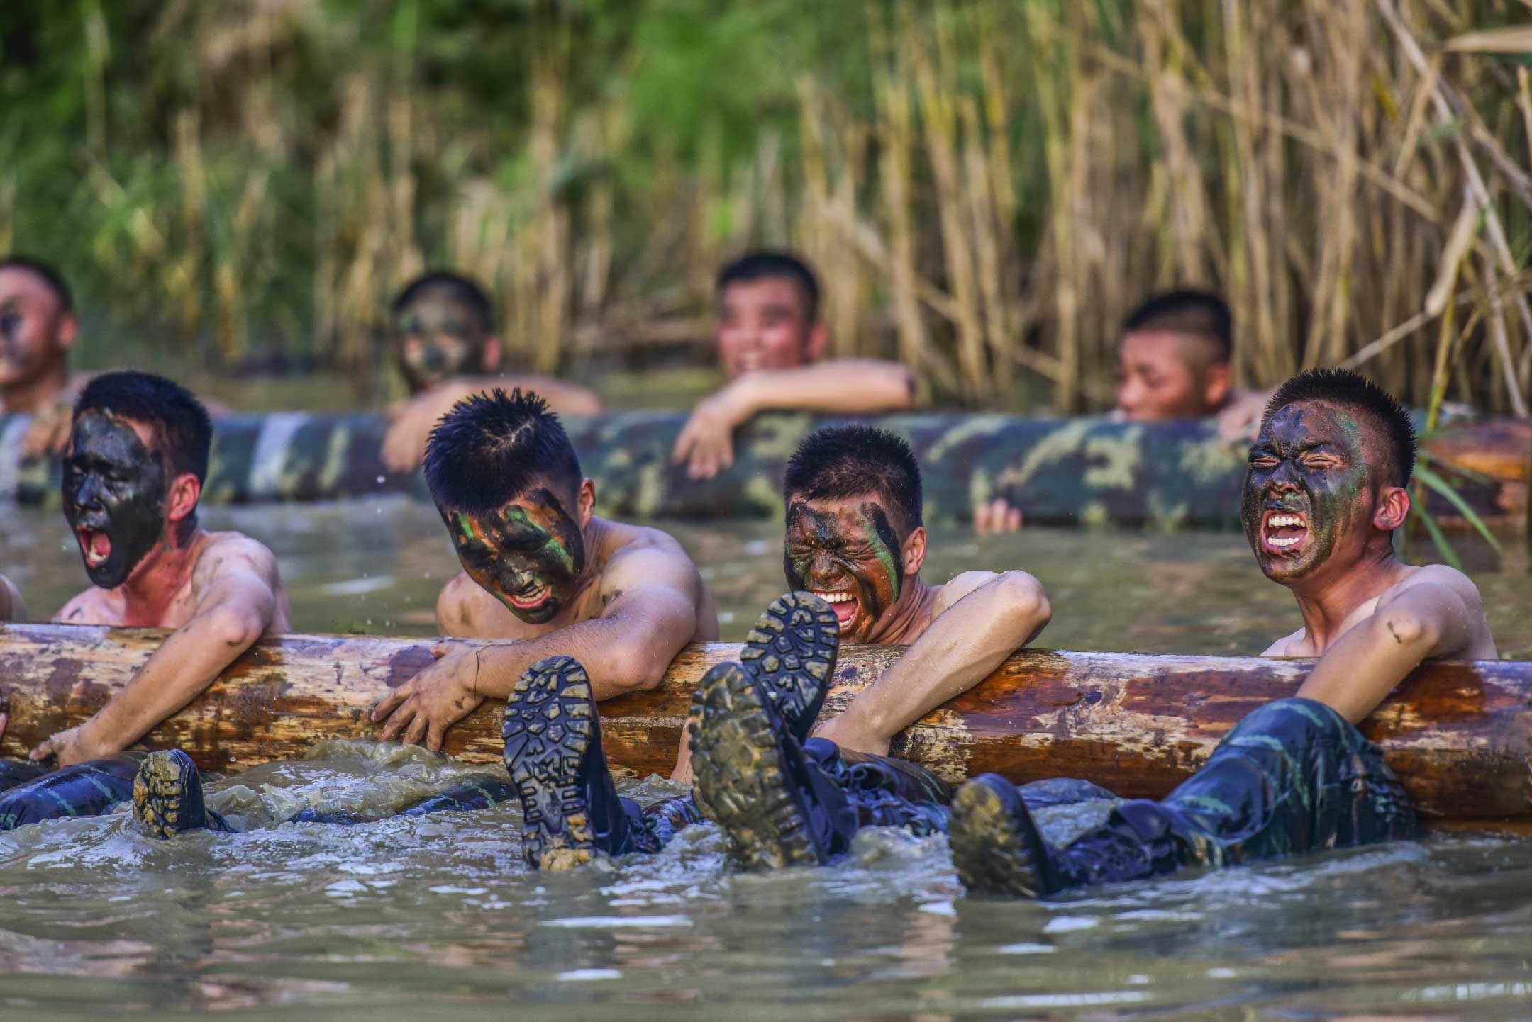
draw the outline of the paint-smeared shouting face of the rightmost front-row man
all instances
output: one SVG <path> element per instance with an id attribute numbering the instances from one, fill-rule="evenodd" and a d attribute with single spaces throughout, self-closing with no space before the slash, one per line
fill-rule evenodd
<path id="1" fill-rule="evenodd" d="M 1365 540 L 1373 497 L 1360 422 L 1324 404 L 1291 404 L 1250 447 L 1239 517 L 1265 577 L 1291 583 L 1348 537 Z"/>

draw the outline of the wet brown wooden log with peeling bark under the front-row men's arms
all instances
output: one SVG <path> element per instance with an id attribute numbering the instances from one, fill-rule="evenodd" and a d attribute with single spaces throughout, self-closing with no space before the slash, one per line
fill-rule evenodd
<path id="1" fill-rule="evenodd" d="M 11 725 L 0 754 L 84 721 L 155 649 L 162 633 L 25 624 L 0 630 Z M 204 696 L 150 733 L 199 765 L 242 768 L 294 759 L 320 739 L 366 737 L 383 692 L 432 662 L 427 641 L 285 635 L 262 640 Z M 841 652 L 826 713 L 902 650 Z M 668 773 L 691 690 L 737 646 L 692 646 L 654 692 L 602 704 L 614 765 Z M 1118 794 L 1160 797 L 1203 763 L 1253 708 L 1296 692 L 1308 661 L 1023 652 L 985 682 L 912 727 L 895 751 L 948 779 L 997 771 L 1013 780 L 1074 776 Z M 1429 664 L 1370 718 L 1420 811 L 1455 820 L 1532 820 L 1532 662 Z M 499 704 L 447 733 L 447 751 L 498 762 Z"/>

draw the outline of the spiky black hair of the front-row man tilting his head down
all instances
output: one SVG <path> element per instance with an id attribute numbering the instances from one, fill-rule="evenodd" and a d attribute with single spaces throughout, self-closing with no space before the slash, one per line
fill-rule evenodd
<path id="1" fill-rule="evenodd" d="M 452 405 L 426 441 L 426 485 L 441 508 L 484 514 L 535 482 L 568 496 L 579 490 L 574 445 L 548 402 L 516 387 L 495 387 Z"/>

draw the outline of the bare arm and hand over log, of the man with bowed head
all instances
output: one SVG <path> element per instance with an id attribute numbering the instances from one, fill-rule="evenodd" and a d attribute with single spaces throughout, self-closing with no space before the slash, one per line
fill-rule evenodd
<path id="1" fill-rule="evenodd" d="M 532 640 L 493 644 L 440 643 L 437 662 L 395 688 L 372 711 L 380 740 L 400 737 L 432 751 L 449 727 L 486 698 L 506 699 L 516 679 L 544 656 L 573 656 L 590 675 L 596 699 L 653 688 L 697 632 L 706 595 L 702 575 L 668 535 L 617 551 L 601 577 L 601 617 Z"/>

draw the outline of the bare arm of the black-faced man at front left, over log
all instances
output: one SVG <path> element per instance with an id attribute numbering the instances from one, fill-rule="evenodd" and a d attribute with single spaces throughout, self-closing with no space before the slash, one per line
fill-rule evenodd
<path id="1" fill-rule="evenodd" d="M 32 759 L 60 766 L 119 753 L 218 679 L 279 617 L 276 558 L 237 534 L 214 537 L 192 575 L 196 610 L 95 716 L 54 734 Z M 285 627 L 285 621 L 279 621 Z"/>

